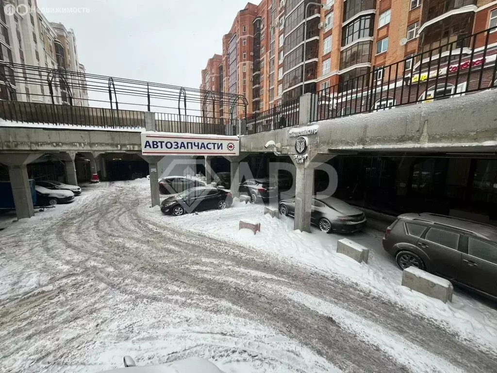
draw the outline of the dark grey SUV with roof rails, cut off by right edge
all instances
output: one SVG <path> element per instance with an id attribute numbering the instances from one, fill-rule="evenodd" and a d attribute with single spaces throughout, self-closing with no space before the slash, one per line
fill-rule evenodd
<path id="1" fill-rule="evenodd" d="M 497 228 L 437 214 L 403 214 L 387 228 L 383 248 L 410 266 L 497 300 Z"/>

